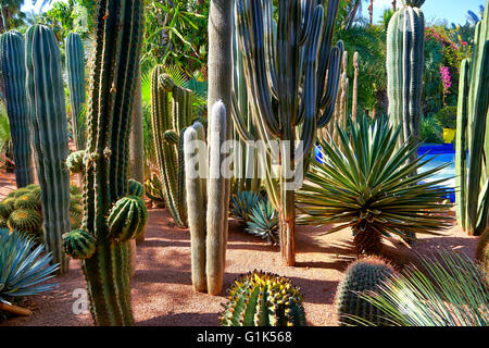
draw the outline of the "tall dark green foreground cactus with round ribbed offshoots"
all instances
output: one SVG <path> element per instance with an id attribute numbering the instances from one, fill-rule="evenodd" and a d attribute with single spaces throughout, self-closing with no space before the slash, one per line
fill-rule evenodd
<path id="1" fill-rule="evenodd" d="M 134 324 L 130 240 L 137 237 L 147 216 L 142 200 L 128 196 L 129 135 L 142 11 L 141 0 L 99 1 L 89 79 L 84 220 L 82 231 L 65 238 L 70 256 L 85 259 L 90 313 L 93 323 L 101 326 Z"/>

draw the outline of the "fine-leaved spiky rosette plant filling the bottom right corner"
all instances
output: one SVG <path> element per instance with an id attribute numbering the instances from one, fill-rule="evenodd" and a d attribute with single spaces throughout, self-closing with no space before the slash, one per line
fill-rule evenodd
<path id="1" fill-rule="evenodd" d="M 359 296 L 386 313 L 394 326 L 488 326 L 487 273 L 455 252 L 441 250 L 434 257 L 422 257 L 426 274 L 411 265 L 375 291 Z M 375 326 L 363 318 L 352 319 Z"/>

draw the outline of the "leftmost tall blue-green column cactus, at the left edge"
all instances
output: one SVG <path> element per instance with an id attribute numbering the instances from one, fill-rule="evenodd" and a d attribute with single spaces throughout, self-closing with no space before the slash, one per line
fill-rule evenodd
<path id="1" fill-rule="evenodd" d="M 24 37 L 18 32 L 12 30 L 0 36 L 0 69 L 5 87 L 17 187 L 25 187 L 34 182 L 24 45 Z"/>

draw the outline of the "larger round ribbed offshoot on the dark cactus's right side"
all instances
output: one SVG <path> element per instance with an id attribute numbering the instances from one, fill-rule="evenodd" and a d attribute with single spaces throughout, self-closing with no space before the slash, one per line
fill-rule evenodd
<path id="1" fill-rule="evenodd" d="M 148 210 L 136 196 L 120 199 L 112 208 L 109 219 L 109 237 L 121 243 L 136 238 L 145 228 Z"/>

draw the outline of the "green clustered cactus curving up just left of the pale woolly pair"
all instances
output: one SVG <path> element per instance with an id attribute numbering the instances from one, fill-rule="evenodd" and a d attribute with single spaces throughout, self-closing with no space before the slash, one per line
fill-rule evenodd
<path id="1" fill-rule="evenodd" d="M 183 133 L 191 123 L 191 90 L 176 86 L 162 65 L 151 76 L 151 127 L 166 207 L 175 223 L 187 226 Z"/>

